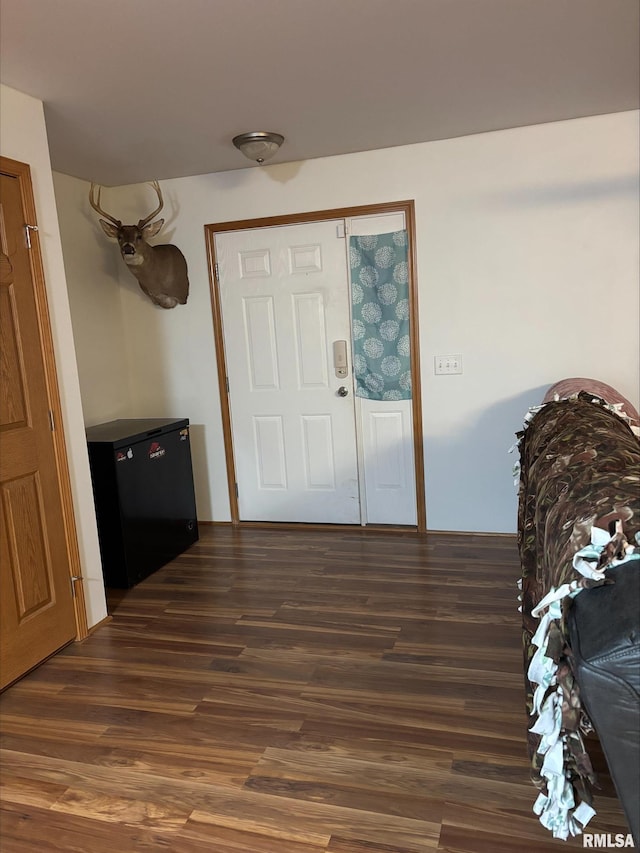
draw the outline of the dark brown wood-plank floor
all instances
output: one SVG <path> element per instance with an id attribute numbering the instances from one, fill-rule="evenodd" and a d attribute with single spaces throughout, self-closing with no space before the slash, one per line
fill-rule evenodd
<path id="1" fill-rule="evenodd" d="M 2 695 L 2 853 L 582 848 L 531 811 L 517 577 L 511 537 L 204 527 Z"/>

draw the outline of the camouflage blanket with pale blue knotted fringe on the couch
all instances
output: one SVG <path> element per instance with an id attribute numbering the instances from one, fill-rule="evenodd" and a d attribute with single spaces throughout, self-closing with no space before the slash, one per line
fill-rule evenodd
<path id="1" fill-rule="evenodd" d="M 636 534 L 640 536 L 640 444 L 604 400 L 581 392 L 575 398 L 540 407 L 518 433 L 518 449 L 525 687 L 529 725 L 534 722 L 534 730 L 528 732 L 528 750 L 532 779 L 541 791 L 539 808 L 534 806 L 534 810 L 540 814 L 546 809 L 541 822 L 556 837 L 566 838 L 578 834 L 595 814 L 591 789 L 597 780 L 583 740 L 590 723 L 580 706 L 579 687 L 573 678 L 565 617 L 571 598 L 581 589 L 613 583 L 606 574 L 608 566 L 639 556 L 633 544 Z M 574 557 L 590 546 L 592 528 L 606 531 L 599 537 L 604 536 L 606 545 L 600 549 L 597 571 L 587 571 L 589 576 L 585 577 L 574 567 Z M 570 586 L 564 586 L 567 584 Z M 562 594 L 558 593 L 557 601 L 544 614 L 542 650 L 553 665 L 541 687 L 542 676 L 532 679 L 532 672 L 540 671 L 536 647 L 536 641 L 538 647 L 542 645 L 539 617 L 545 609 L 543 600 L 550 594 L 553 597 L 554 590 Z M 554 708 L 562 737 L 558 746 L 564 790 L 560 792 L 549 790 L 551 777 L 543 769 L 549 743 L 545 742 L 544 721 L 538 722 L 546 711 L 547 716 L 555 713 L 548 703 L 545 707 L 551 693 L 558 695 Z M 550 814 L 551 798 L 562 802 L 563 818 Z"/>

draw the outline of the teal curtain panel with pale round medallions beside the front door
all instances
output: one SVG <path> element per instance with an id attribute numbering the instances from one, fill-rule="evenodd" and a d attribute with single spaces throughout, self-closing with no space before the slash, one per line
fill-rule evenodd
<path id="1" fill-rule="evenodd" d="M 351 237 L 356 396 L 410 400 L 407 232 Z"/>

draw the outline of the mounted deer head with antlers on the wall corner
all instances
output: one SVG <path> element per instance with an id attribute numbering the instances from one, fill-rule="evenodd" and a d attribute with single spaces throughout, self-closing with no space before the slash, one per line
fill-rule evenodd
<path id="1" fill-rule="evenodd" d="M 175 308 L 184 305 L 189 295 L 187 262 L 177 246 L 165 243 L 151 246 L 147 241 L 155 237 L 164 225 L 164 219 L 151 222 L 163 207 L 162 192 L 157 181 L 151 184 L 158 196 L 158 207 L 141 219 L 137 225 L 123 225 L 115 216 L 100 207 L 102 187 L 91 184 L 89 204 L 104 216 L 100 220 L 102 230 L 107 237 L 115 237 L 120 246 L 120 254 L 130 273 L 137 279 L 140 288 L 156 305 L 162 308 Z M 108 221 L 107 221 L 108 220 Z"/>

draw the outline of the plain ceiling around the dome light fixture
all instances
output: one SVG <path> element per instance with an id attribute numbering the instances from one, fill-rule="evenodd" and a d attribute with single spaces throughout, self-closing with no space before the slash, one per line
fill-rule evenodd
<path id="1" fill-rule="evenodd" d="M 0 0 L 54 170 L 120 185 L 639 106 L 638 0 Z M 1 104 L 0 104 L 1 107 Z M 258 168 L 258 167 L 256 167 Z"/>

